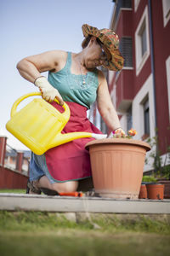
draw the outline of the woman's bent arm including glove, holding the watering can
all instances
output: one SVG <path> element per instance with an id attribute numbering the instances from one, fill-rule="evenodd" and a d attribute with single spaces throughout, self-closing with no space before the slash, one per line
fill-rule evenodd
<path id="1" fill-rule="evenodd" d="M 20 75 L 34 83 L 42 93 L 42 98 L 48 102 L 59 100 L 59 104 L 63 105 L 62 96 L 59 91 L 48 83 L 48 79 L 41 76 L 42 72 L 57 72 L 65 66 L 67 53 L 65 51 L 53 50 L 42 53 L 40 55 L 32 55 L 21 60 L 17 64 Z"/>

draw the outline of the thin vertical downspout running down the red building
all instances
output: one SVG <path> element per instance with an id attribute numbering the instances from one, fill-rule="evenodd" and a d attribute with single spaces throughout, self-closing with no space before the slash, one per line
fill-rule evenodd
<path id="1" fill-rule="evenodd" d="M 152 30 L 152 9 L 151 0 L 148 0 L 149 8 L 149 26 L 150 26 L 150 61 L 151 61 L 151 73 L 153 75 L 153 93 L 154 93 L 154 113 L 155 113 L 155 127 L 157 128 L 156 118 L 156 77 L 155 77 L 155 59 L 154 59 L 154 42 L 153 42 L 153 30 Z M 156 131 L 157 135 L 157 131 Z"/>

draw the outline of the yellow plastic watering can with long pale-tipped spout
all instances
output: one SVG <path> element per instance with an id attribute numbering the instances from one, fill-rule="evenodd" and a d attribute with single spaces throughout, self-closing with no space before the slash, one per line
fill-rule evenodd
<path id="1" fill-rule="evenodd" d="M 63 105 L 65 112 L 60 113 L 42 98 L 36 98 L 17 112 L 16 108 L 20 102 L 29 96 L 41 96 L 41 93 L 28 93 L 14 102 L 11 109 L 11 119 L 6 124 L 6 128 L 35 154 L 43 154 L 49 148 L 54 148 L 81 137 L 99 139 L 107 136 L 90 132 L 62 134 L 61 131 L 70 119 L 71 114 L 70 108 L 66 103 Z M 58 102 L 57 100 L 55 101 Z"/>

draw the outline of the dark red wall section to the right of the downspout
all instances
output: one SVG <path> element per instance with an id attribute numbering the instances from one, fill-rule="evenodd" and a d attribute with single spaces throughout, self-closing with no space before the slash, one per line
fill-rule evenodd
<path id="1" fill-rule="evenodd" d="M 166 60 L 170 55 L 170 21 L 163 26 L 163 13 L 161 1 L 152 0 L 153 15 L 153 38 L 155 55 L 155 78 L 156 78 L 156 115 L 159 146 L 162 153 L 167 151 L 170 145 L 169 110 L 167 98 L 167 70 Z M 168 35 L 168 36 L 167 36 Z M 162 136 L 163 135 L 163 136 Z"/>

